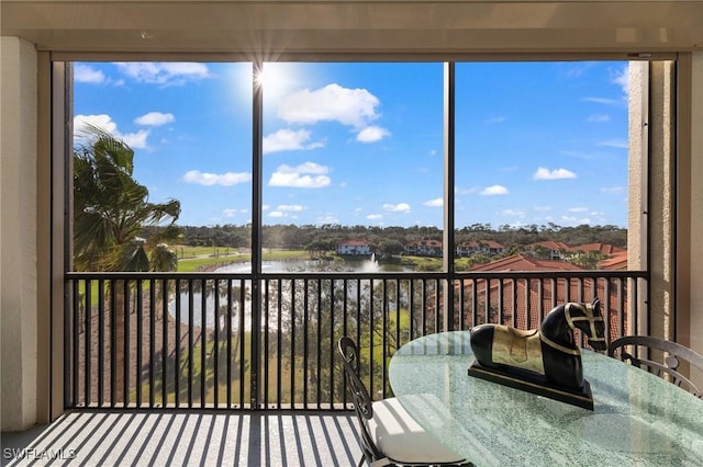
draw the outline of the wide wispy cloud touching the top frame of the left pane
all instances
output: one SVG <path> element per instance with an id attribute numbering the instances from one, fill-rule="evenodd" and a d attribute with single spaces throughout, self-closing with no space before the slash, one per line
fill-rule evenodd
<path id="1" fill-rule="evenodd" d="M 210 77 L 208 66 L 197 62 L 118 62 L 118 69 L 135 81 L 159 86 L 182 86 Z"/>

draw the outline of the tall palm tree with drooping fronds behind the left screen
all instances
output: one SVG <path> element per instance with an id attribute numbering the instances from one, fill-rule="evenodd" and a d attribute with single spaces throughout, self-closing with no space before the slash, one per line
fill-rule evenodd
<path id="1" fill-rule="evenodd" d="M 152 203 L 148 190 L 133 178 L 134 151 L 121 139 L 91 126 L 74 149 L 74 265 L 77 271 L 175 271 L 177 255 L 165 241 L 180 202 Z M 159 226 L 144 239 L 145 227 Z M 116 400 L 124 400 L 124 283 L 115 281 Z"/>

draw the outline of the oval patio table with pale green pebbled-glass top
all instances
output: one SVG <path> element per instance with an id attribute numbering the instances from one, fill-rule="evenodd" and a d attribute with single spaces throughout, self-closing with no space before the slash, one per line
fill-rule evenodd
<path id="1" fill-rule="evenodd" d="M 615 358 L 581 354 L 593 411 L 469 376 L 468 331 L 403 345 L 389 379 L 425 430 L 477 466 L 703 465 L 703 400 Z"/>

